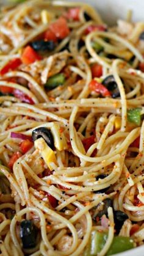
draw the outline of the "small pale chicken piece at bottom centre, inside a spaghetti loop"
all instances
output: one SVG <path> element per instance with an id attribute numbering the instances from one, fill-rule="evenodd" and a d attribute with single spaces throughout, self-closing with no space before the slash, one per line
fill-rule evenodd
<path id="1" fill-rule="evenodd" d="M 65 252 L 70 249 L 71 245 L 73 243 L 73 238 L 68 235 L 62 236 L 60 240 L 57 242 L 57 249 L 59 251 Z"/>

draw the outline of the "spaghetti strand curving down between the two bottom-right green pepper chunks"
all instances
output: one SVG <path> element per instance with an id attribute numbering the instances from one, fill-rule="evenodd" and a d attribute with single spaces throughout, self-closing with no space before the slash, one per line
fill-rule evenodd
<path id="1" fill-rule="evenodd" d="M 110 222 L 109 233 L 108 233 L 108 236 L 107 236 L 106 244 L 104 244 L 104 247 L 101 250 L 101 252 L 98 253 L 98 256 L 106 255 L 106 252 L 109 250 L 109 247 L 112 244 L 112 240 L 113 240 L 113 236 L 114 236 L 114 222 L 113 222 L 113 210 L 112 210 L 112 207 L 109 207 L 107 209 L 107 213 L 108 213 L 109 222 Z"/>

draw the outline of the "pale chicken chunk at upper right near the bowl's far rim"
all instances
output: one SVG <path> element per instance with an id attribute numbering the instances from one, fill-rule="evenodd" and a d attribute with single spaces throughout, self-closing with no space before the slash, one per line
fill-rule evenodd
<path id="1" fill-rule="evenodd" d="M 132 33 L 134 29 L 134 26 L 131 23 L 128 23 L 127 21 L 124 21 L 124 20 L 118 20 L 117 24 L 118 24 L 117 32 L 120 35 L 126 35 L 127 37 L 129 37 L 129 35 Z"/>

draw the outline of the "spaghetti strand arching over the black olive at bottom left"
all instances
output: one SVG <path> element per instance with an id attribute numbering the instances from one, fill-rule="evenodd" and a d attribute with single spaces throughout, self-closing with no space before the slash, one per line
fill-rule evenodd
<path id="1" fill-rule="evenodd" d="M 46 236 L 45 215 L 40 209 L 36 207 L 26 207 L 23 210 L 19 211 L 13 217 L 12 222 L 10 224 L 10 232 L 13 234 L 12 236 L 13 244 L 15 244 L 15 247 L 18 249 L 18 252 L 20 255 L 23 255 L 23 252 L 21 251 L 20 243 L 18 242 L 18 238 L 16 237 L 15 226 L 16 226 L 16 222 L 20 220 L 21 216 L 31 211 L 37 214 L 38 217 L 40 218 L 40 229 L 41 229 L 41 237 L 43 239 L 43 243 L 45 243 L 46 247 L 48 247 L 49 249 L 52 249 L 51 243 L 49 243 L 49 240 Z"/>

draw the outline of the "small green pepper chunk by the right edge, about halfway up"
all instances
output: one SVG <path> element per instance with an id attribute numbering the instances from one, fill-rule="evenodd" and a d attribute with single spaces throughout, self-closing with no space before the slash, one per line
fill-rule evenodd
<path id="1" fill-rule="evenodd" d="M 140 126 L 140 122 L 141 122 L 141 108 L 134 108 L 134 109 L 129 109 L 128 110 L 128 121 L 135 123 L 135 125 Z"/>

